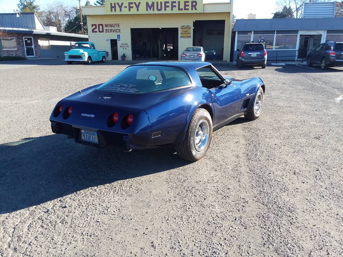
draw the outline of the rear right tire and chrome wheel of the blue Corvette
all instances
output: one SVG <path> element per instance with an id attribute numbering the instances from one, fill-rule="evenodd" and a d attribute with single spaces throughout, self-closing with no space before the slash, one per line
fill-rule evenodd
<path id="1" fill-rule="evenodd" d="M 204 124 L 204 127 L 207 127 L 202 131 L 201 124 Z M 177 155 L 187 161 L 198 161 L 205 156 L 206 152 L 209 149 L 212 139 L 212 119 L 210 113 L 203 108 L 197 109 L 189 123 L 184 141 L 175 147 Z M 199 136 L 199 133 L 202 133 L 202 136 L 199 140 L 199 144 L 196 146 L 196 135 Z M 206 136 L 207 135 L 207 136 Z M 206 140 L 204 142 L 204 140 Z"/>

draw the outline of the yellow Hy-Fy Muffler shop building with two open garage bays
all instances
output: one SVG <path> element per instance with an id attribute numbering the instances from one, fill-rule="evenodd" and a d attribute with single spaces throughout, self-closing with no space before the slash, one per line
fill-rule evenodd
<path id="1" fill-rule="evenodd" d="M 232 0 L 106 0 L 82 7 L 89 40 L 108 59 L 180 60 L 187 46 L 202 46 L 207 60 L 230 59 Z"/>

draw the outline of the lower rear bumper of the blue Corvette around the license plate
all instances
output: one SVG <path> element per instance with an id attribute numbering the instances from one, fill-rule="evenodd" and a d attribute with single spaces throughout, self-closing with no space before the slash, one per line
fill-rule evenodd
<path id="1" fill-rule="evenodd" d="M 87 143 L 80 140 L 80 130 L 88 129 L 96 131 L 98 134 L 99 144 Z M 78 127 L 67 123 L 51 121 L 51 130 L 55 134 L 64 134 L 74 137 L 76 143 L 91 145 L 95 147 L 117 146 L 124 149 L 146 149 L 154 148 L 155 146 L 148 145 L 148 138 L 138 134 L 124 134 L 118 132 L 110 132 L 104 130 L 97 130 L 94 128 Z"/>

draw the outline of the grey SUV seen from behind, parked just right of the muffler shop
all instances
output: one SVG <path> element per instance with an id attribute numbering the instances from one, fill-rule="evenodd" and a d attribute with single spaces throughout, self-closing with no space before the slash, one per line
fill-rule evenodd
<path id="1" fill-rule="evenodd" d="M 244 65 L 261 66 L 265 69 L 267 65 L 267 50 L 262 43 L 246 43 L 237 54 L 236 65 L 242 69 Z"/>

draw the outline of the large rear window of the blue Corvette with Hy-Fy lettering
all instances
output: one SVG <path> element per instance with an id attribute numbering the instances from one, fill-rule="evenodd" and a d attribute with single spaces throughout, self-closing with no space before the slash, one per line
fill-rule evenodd
<path id="1" fill-rule="evenodd" d="M 130 66 L 97 87 L 99 90 L 143 94 L 192 84 L 188 74 L 177 67 L 157 65 Z"/>

